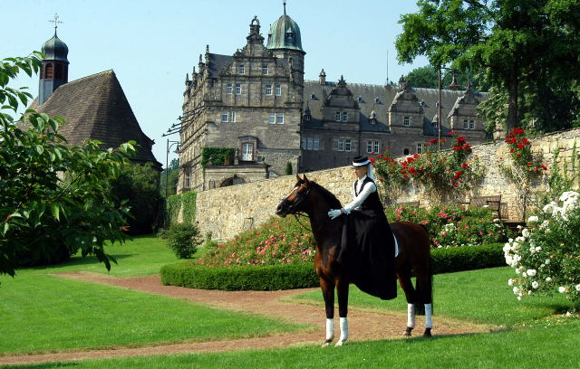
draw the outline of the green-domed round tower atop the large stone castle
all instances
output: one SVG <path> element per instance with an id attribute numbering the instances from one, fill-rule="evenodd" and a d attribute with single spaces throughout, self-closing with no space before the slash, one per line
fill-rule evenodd
<path id="1" fill-rule="evenodd" d="M 266 48 L 272 50 L 276 58 L 288 61 L 292 79 L 299 86 L 304 86 L 304 55 L 300 27 L 295 21 L 286 15 L 286 2 L 284 2 L 284 14 L 270 26 Z"/>

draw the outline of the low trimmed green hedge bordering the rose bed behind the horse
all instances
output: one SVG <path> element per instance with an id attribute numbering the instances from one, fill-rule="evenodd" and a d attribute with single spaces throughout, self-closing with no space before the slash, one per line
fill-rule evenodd
<path id="1" fill-rule="evenodd" d="M 503 245 L 432 249 L 434 274 L 461 270 L 478 270 L 506 265 Z M 318 286 L 318 276 L 311 263 L 265 267 L 201 267 L 191 262 L 165 265 L 161 268 L 164 285 L 190 289 L 278 290 Z"/>

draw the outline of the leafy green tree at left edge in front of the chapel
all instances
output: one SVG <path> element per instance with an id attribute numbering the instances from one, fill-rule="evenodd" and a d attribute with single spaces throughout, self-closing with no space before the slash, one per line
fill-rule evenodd
<path id="1" fill-rule="evenodd" d="M 109 270 L 114 259 L 103 245 L 127 238 L 122 227 L 129 212 L 115 204 L 110 180 L 135 151 L 134 143 L 102 150 L 88 140 L 69 147 L 58 134 L 63 118 L 28 109 L 14 119 L 32 95 L 7 87 L 8 81 L 20 71 L 32 76 L 41 57 L 34 52 L 0 64 L 0 274 L 14 276 L 20 258 L 51 261 L 63 250 L 66 256 L 96 255 Z"/>

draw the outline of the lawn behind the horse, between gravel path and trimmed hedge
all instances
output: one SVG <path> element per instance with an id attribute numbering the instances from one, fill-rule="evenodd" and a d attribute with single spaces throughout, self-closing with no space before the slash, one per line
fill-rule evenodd
<path id="1" fill-rule="evenodd" d="M 508 267 L 435 275 L 434 323 L 437 324 L 437 315 L 441 315 L 496 326 L 517 326 L 565 312 L 572 307 L 558 294 L 553 297 L 532 296 L 517 301 L 507 286 L 507 279 L 513 277 L 514 271 Z M 320 291 L 304 293 L 293 297 L 293 300 L 323 306 Z M 384 301 L 351 286 L 349 306 L 379 311 L 407 309 L 401 288 L 398 298 Z"/>

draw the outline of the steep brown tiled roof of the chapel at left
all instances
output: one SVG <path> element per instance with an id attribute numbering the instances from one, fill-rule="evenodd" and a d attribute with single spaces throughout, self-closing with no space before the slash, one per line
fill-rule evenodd
<path id="1" fill-rule="evenodd" d="M 68 123 L 59 133 L 70 145 L 82 145 L 91 138 L 101 141 L 102 148 L 109 148 L 134 140 L 140 147 L 131 159 L 160 166 L 151 152 L 153 141 L 141 130 L 114 71 L 65 83 L 42 106 L 34 99 L 30 108 L 65 118 Z"/>

